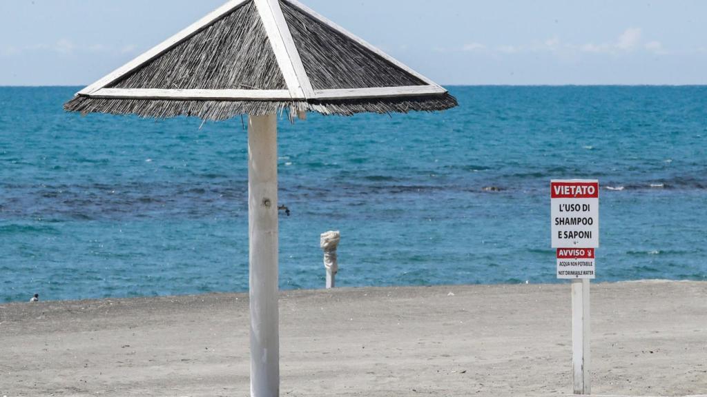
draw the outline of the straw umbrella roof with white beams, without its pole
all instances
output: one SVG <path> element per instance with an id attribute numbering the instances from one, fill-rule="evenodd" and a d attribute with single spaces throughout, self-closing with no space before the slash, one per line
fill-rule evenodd
<path id="1" fill-rule="evenodd" d="M 231 0 L 89 85 L 72 112 L 195 116 L 435 111 L 447 90 L 296 0 Z"/>

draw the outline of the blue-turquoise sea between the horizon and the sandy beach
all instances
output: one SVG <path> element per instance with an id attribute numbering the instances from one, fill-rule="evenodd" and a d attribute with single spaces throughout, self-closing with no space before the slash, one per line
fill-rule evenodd
<path id="1" fill-rule="evenodd" d="M 247 290 L 240 118 L 0 88 L 0 302 Z M 600 179 L 597 281 L 707 280 L 707 87 L 451 87 L 443 113 L 279 124 L 280 285 L 556 283 L 550 179 Z"/>

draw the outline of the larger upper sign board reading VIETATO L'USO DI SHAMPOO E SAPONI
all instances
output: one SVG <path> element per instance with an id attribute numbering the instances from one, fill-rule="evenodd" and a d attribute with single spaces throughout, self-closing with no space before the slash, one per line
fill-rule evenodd
<path id="1" fill-rule="evenodd" d="M 599 247 L 599 181 L 550 183 L 553 248 Z"/>

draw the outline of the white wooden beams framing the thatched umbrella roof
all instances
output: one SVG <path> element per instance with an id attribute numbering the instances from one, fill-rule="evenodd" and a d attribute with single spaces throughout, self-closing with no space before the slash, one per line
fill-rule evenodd
<path id="1" fill-rule="evenodd" d="M 300 54 L 291 32 L 285 21 L 285 17 L 278 0 L 252 0 L 263 22 L 264 28 L 269 37 L 270 45 L 275 54 L 277 63 L 287 85 L 287 90 L 201 90 L 201 89 L 155 89 L 155 88 L 107 88 L 120 78 L 140 69 L 144 64 L 164 54 L 189 37 L 208 27 L 216 20 L 223 18 L 228 13 L 235 10 L 250 0 L 231 0 L 223 6 L 217 8 L 209 15 L 201 18 L 196 23 L 178 32 L 173 37 L 153 47 L 148 52 L 140 55 L 136 59 L 128 62 L 124 66 L 116 69 L 99 81 L 89 85 L 79 91 L 77 95 L 100 98 L 100 99 L 133 99 L 133 100 L 262 100 L 262 101 L 285 101 L 285 100 L 352 100 L 382 97 L 415 97 L 426 95 L 440 95 L 447 93 L 445 88 L 434 83 L 420 73 L 410 69 L 401 62 L 380 51 L 365 40 L 357 37 L 351 32 L 341 28 L 327 18 L 312 11 L 304 4 L 296 0 L 281 0 L 296 6 L 310 17 L 319 20 L 333 30 L 349 37 L 359 45 L 369 49 L 371 52 L 386 59 L 400 69 L 419 78 L 426 85 L 408 85 L 402 87 L 382 87 L 382 88 L 349 88 L 335 90 L 315 90 L 312 88 L 310 78 L 305 71 L 305 67 L 300 59 Z"/>

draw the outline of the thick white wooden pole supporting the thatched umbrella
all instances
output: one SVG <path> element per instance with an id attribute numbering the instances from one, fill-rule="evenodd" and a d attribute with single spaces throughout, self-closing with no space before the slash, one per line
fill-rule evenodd
<path id="1" fill-rule="evenodd" d="M 277 117 L 248 117 L 250 396 L 280 392 Z"/>

